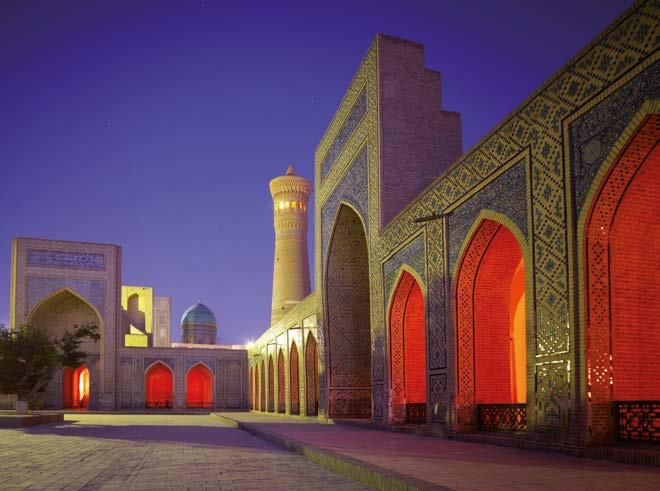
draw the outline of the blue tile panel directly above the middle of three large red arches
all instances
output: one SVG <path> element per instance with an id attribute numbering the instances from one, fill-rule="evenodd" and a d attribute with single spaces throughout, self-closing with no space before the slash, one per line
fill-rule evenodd
<path id="1" fill-rule="evenodd" d="M 449 214 L 447 217 L 449 271 L 453 271 L 466 235 L 477 215 L 484 209 L 494 210 L 509 217 L 528 239 L 526 163 L 527 159 L 522 159 L 514 164 Z"/>

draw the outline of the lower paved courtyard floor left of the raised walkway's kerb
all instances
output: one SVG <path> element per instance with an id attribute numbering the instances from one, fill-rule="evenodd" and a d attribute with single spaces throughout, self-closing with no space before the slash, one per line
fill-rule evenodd
<path id="1" fill-rule="evenodd" d="M 0 430 L 1 489 L 367 489 L 209 415 L 67 414 Z"/>

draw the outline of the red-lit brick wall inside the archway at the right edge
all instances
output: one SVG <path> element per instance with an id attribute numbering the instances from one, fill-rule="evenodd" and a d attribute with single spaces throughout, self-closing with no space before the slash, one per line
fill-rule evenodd
<path id="1" fill-rule="evenodd" d="M 610 231 L 615 400 L 660 399 L 658 183 L 656 144 L 623 195 Z"/>

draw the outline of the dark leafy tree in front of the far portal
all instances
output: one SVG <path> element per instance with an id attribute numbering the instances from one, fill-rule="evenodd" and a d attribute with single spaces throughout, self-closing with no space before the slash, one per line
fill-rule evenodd
<path id="1" fill-rule="evenodd" d="M 86 338 L 97 342 L 98 326 L 85 324 L 52 337 L 39 325 L 26 324 L 10 330 L 0 325 L 0 393 L 16 394 L 30 401 L 43 390 L 61 367 L 77 368 L 87 353 L 80 345 Z"/>

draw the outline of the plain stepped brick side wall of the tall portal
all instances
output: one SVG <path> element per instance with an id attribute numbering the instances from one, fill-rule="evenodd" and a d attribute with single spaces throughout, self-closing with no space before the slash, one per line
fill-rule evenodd
<path id="1" fill-rule="evenodd" d="M 378 35 L 381 225 L 387 224 L 462 151 L 460 114 L 443 111 L 440 74 L 422 45 Z"/>

